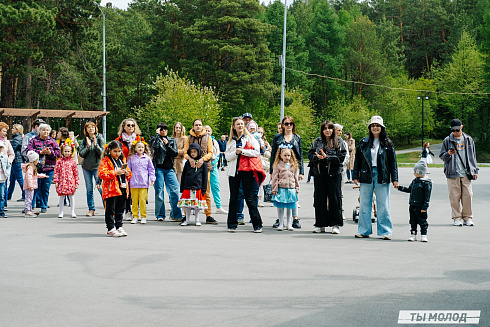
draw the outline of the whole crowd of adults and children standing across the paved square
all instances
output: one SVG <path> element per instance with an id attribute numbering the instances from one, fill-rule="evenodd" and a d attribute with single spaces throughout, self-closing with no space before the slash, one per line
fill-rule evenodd
<path id="1" fill-rule="evenodd" d="M 463 133 L 458 119 L 451 121 L 451 134 L 444 140 L 439 157 L 444 161 L 452 219 L 455 226 L 473 226 L 471 180 L 478 178 L 475 147 L 472 138 Z M 194 120 L 186 134 L 184 125 L 176 122 L 171 136 L 166 123 L 156 126 L 148 142 L 133 118 L 124 119 L 118 137 L 106 144 L 95 123 L 83 128 L 83 139 L 67 128 L 53 131 L 42 119 L 33 122 L 32 130 L 23 135 L 22 125 L 0 122 L 0 216 L 7 217 L 7 200 L 12 199 L 15 184 L 22 189 L 25 217 L 37 217 L 48 210 L 51 184 L 59 196 L 59 218 L 64 207 L 71 207 L 76 218 L 75 197 L 79 187 L 77 164 L 81 164 L 86 188 L 87 213 L 95 214 L 94 190 L 105 204 L 108 236 L 127 236 L 123 221 L 146 224 L 148 189 L 155 190 L 156 220 L 167 218 L 164 190 L 167 190 L 169 219 L 182 226 L 201 225 L 201 212 L 206 224 L 218 224 L 212 217 L 211 195 L 216 214 L 227 214 L 229 232 L 245 225 L 246 203 L 255 233 L 262 232 L 259 207 L 265 198 L 261 184 L 270 174 L 271 196 L 277 208 L 273 227 L 278 231 L 301 228 L 298 218 L 298 193 L 305 176 L 303 143 L 293 117 L 278 123 L 278 133 L 267 141 L 264 129 L 250 113 L 233 118 L 229 134 L 215 139 L 210 126 Z M 422 160 L 414 166 L 415 179 L 409 187 L 398 183 L 398 167 L 393 142 L 383 119 L 373 116 L 367 126 L 368 136 L 357 146 L 343 126 L 324 121 L 320 135 L 308 151 L 308 182 L 314 182 L 314 233 L 331 228 L 339 234 L 343 226 L 343 185 L 359 185 L 359 225 L 357 238 L 373 234 L 371 210 L 376 195 L 377 235 L 390 240 L 393 224 L 390 216 L 390 184 L 410 193 L 409 241 L 416 240 L 420 226 L 422 241 L 427 242 L 427 210 L 432 182 L 427 175 L 427 160 L 434 155 L 424 144 Z M 222 206 L 219 171 L 228 176 L 230 190 L 228 211 Z M 7 183 L 10 182 L 8 189 Z M 38 210 L 35 210 L 37 208 Z M 202 218 L 204 219 L 204 217 Z M 203 221 L 204 222 L 204 221 Z"/>

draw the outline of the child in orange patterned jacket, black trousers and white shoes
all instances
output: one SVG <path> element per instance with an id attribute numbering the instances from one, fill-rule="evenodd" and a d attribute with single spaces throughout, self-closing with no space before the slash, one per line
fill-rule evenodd
<path id="1" fill-rule="evenodd" d="M 132 174 L 125 163 L 120 142 L 112 141 L 104 150 L 99 177 L 102 180 L 102 199 L 105 201 L 107 236 L 128 236 L 122 227 L 122 221 L 128 197 L 126 190 Z"/>

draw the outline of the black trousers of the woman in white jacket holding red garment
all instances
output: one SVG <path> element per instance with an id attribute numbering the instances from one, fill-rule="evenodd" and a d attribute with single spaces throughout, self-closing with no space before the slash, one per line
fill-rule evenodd
<path id="1" fill-rule="evenodd" d="M 239 171 L 237 175 L 228 177 L 230 185 L 230 203 L 228 208 L 228 228 L 237 228 L 237 207 L 238 193 L 240 190 L 240 182 L 243 188 L 243 196 L 248 206 L 248 212 L 254 228 L 262 227 L 262 218 L 260 217 L 257 202 L 255 201 L 256 192 L 254 190 L 255 177 L 251 171 Z"/>

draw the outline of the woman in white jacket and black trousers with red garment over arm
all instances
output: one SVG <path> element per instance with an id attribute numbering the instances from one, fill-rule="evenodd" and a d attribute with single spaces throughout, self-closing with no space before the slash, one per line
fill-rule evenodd
<path id="1" fill-rule="evenodd" d="M 228 231 L 235 232 L 238 226 L 237 204 L 241 183 L 254 233 L 262 233 L 262 218 L 257 208 L 257 194 L 254 192 L 253 186 L 254 183 L 258 183 L 260 186 L 265 179 L 265 173 L 260 160 L 259 143 L 247 131 L 241 117 L 233 118 L 225 158 L 228 161 L 226 174 L 230 185 Z"/>

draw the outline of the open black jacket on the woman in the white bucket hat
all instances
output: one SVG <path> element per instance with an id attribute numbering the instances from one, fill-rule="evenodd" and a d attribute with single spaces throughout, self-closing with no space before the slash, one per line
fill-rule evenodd
<path id="1" fill-rule="evenodd" d="M 389 146 L 379 145 L 376 167 L 379 184 L 398 182 L 398 166 L 393 143 L 389 142 Z M 352 179 L 358 179 L 361 183 L 372 183 L 373 181 L 369 137 L 363 138 L 357 146 L 352 176 Z"/>

